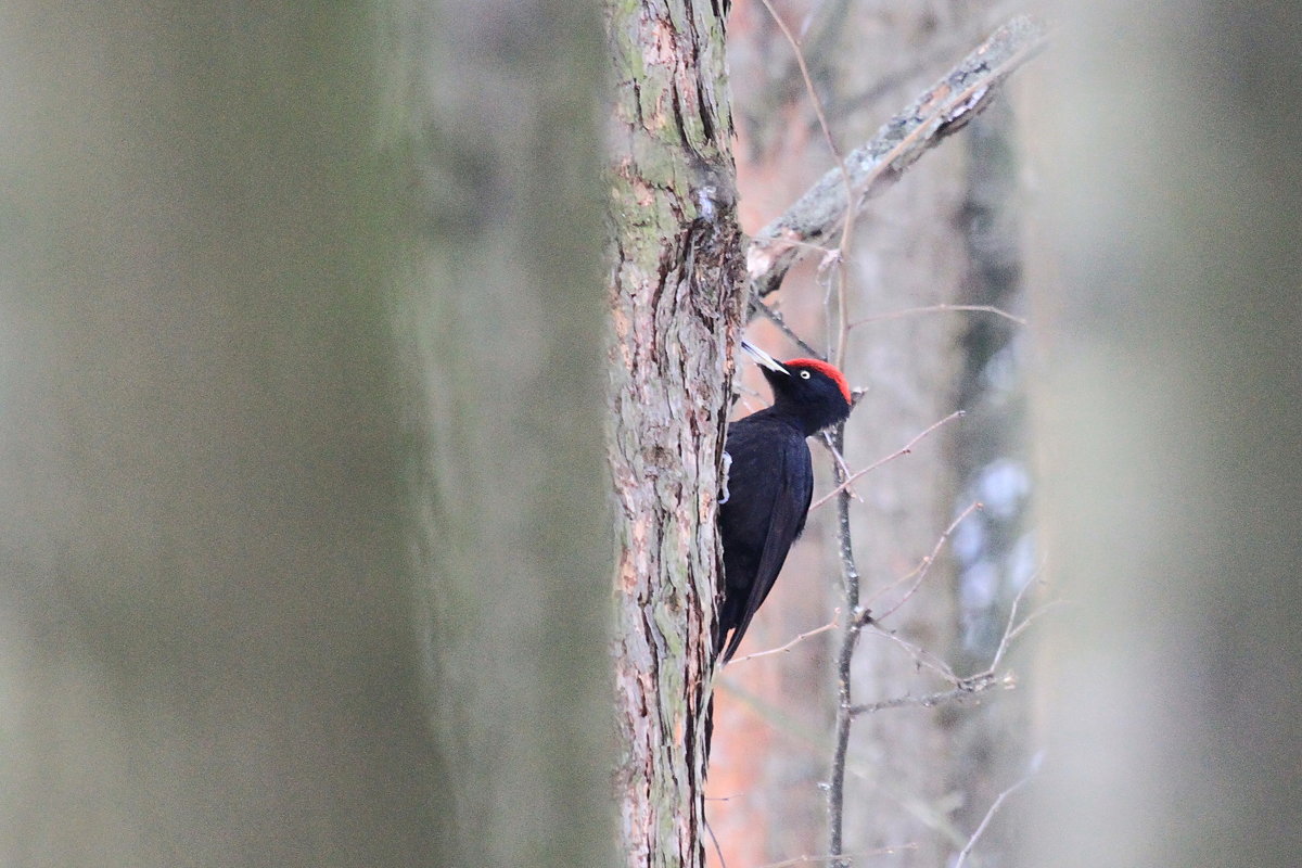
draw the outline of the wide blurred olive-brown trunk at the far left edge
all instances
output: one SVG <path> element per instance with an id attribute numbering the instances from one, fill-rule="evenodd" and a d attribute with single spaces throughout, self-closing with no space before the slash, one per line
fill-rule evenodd
<path id="1" fill-rule="evenodd" d="M 4 18 L 0 861 L 428 864 L 372 22 Z"/>

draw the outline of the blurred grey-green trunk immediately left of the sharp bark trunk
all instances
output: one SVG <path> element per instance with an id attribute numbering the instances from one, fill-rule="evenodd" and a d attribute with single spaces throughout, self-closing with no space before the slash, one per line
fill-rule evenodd
<path id="1" fill-rule="evenodd" d="M 413 1 L 392 31 L 444 864 L 609 864 L 599 8 Z"/>

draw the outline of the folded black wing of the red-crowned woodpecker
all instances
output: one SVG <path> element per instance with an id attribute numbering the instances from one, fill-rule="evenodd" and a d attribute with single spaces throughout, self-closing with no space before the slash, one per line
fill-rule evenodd
<path id="1" fill-rule="evenodd" d="M 776 448 L 766 455 L 771 465 L 764 468 L 764 476 L 772 480 L 773 484 L 760 487 L 766 496 L 764 500 L 771 498 L 771 513 L 768 524 L 764 528 L 763 544 L 756 547 L 759 548 L 759 557 L 746 563 L 745 567 L 736 565 L 734 561 L 734 569 L 745 569 L 747 575 L 743 578 L 749 579 L 745 584 L 749 587 L 745 587 L 745 590 L 738 587 L 740 583 L 736 579 L 742 576 L 725 576 L 730 593 L 745 592 L 743 599 L 734 600 L 728 606 L 732 609 L 730 618 L 728 619 L 734 621 L 734 623 L 725 625 L 733 627 L 728 647 L 723 652 L 725 662 L 736 653 L 742 636 L 746 635 L 746 627 L 750 626 L 750 619 L 755 617 L 768 592 L 773 590 L 773 583 L 777 580 L 777 574 L 786 561 L 786 553 L 790 550 L 792 543 L 805 530 L 805 518 L 809 514 L 810 500 L 814 496 L 814 468 L 810 461 L 809 446 L 805 444 L 805 436 L 793 429 L 789 431 L 788 436 L 773 439 Z M 755 493 L 758 495 L 759 492 Z M 727 549 L 724 552 L 724 561 L 725 570 L 728 566 L 733 566 L 728 563 Z"/>

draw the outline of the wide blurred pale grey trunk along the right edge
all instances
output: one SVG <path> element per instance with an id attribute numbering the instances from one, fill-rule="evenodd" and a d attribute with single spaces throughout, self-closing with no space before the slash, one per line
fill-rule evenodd
<path id="1" fill-rule="evenodd" d="M 1064 7 L 1036 315 L 1056 619 L 1023 864 L 1302 852 L 1302 16 Z M 1143 118 L 1135 124 L 1135 118 Z M 1049 234 L 1052 233 L 1052 234 Z"/>

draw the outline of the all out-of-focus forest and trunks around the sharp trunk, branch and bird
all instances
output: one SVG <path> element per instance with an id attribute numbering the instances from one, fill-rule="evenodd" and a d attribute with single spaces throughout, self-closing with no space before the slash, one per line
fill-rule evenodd
<path id="1" fill-rule="evenodd" d="M 743 229 L 833 164 L 814 96 L 844 152 L 1018 10 L 736 3 Z M 852 470 L 967 411 L 855 485 L 866 601 L 937 557 L 854 700 L 1062 601 L 1017 690 L 854 721 L 846 850 L 1292 868 L 1302 17 L 1040 12 L 1049 51 L 769 299 L 831 347 L 853 288 Z M 621 859 L 608 65 L 577 0 L 0 10 L 0 863 Z M 742 656 L 829 623 L 832 509 Z M 835 642 L 719 685 L 728 868 L 827 860 Z"/>

